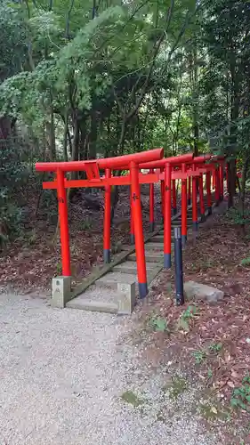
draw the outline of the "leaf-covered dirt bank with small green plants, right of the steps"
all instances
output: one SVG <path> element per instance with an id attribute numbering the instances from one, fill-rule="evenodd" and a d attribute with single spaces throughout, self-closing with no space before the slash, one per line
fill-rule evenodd
<path id="1" fill-rule="evenodd" d="M 247 206 L 249 206 L 249 195 Z M 142 305 L 134 342 L 143 360 L 171 363 L 199 387 L 199 413 L 222 443 L 250 444 L 250 228 L 211 216 L 183 252 L 184 280 L 224 291 L 222 302 L 174 303 L 174 271 L 162 271 Z M 157 320 L 157 321 L 156 321 Z"/>

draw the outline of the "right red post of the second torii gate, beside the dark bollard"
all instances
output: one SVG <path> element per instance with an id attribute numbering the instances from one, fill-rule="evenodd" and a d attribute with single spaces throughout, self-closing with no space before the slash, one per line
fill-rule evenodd
<path id="1" fill-rule="evenodd" d="M 165 164 L 164 267 L 171 267 L 171 165 Z"/>

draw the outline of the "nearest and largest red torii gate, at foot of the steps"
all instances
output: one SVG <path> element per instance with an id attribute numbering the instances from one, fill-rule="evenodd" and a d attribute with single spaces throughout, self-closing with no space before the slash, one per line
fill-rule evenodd
<path id="1" fill-rule="evenodd" d="M 105 187 L 105 217 L 104 233 L 107 233 L 109 221 L 109 242 L 110 242 L 110 186 L 111 185 L 131 185 L 133 196 L 133 221 L 135 228 L 135 248 L 137 258 L 137 273 L 139 292 L 141 298 L 148 294 L 147 272 L 145 263 L 144 239 L 142 230 L 141 213 L 141 174 L 139 174 L 139 164 L 143 162 L 156 161 L 163 158 L 164 150 L 149 150 L 133 155 L 125 155 L 117 158 L 101 158 L 90 161 L 71 161 L 71 162 L 48 162 L 36 163 L 38 172 L 56 172 L 56 180 L 53 182 L 44 182 L 44 189 L 57 189 L 59 217 L 60 217 L 60 246 L 61 263 L 63 276 L 71 276 L 70 270 L 70 252 L 69 252 L 69 222 L 68 222 L 68 203 L 66 189 L 71 187 Z M 111 177 L 111 170 L 118 168 L 130 170 L 130 174 L 125 177 Z M 101 177 L 100 169 L 105 170 L 105 177 Z M 86 180 L 68 181 L 65 178 L 65 172 L 85 171 Z M 149 179 L 149 178 L 148 178 Z M 152 180 L 153 178 L 151 178 Z M 107 233 L 108 234 L 108 233 Z M 104 237 L 105 238 L 105 237 Z M 104 250 L 104 255 L 109 252 Z"/>

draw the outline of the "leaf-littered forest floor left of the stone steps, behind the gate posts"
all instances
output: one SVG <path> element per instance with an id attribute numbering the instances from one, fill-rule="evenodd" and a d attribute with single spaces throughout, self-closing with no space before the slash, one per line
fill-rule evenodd
<path id="1" fill-rule="evenodd" d="M 162 223 L 159 190 L 156 186 L 155 218 Z M 47 193 L 48 191 L 48 193 Z M 87 199 L 93 206 L 89 208 Z M 77 281 L 85 278 L 95 264 L 102 263 L 103 249 L 103 191 L 79 191 L 69 205 L 69 235 L 72 275 Z M 32 292 L 37 286 L 50 292 L 51 279 L 61 274 L 60 239 L 55 240 L 57 200 L 52 190 L 43 191 L 36 212 L 37 195 L 29 190 L 23 200 L 23 219 L 20 235 L 4 251 L 0 251 L 0 283 L 2 287 Z M 129 244 L 130 198 L 128 187 L 120 188 L 111 243 Z M 149 186 L 141 187 L 144 230 L 149 233 Z"/>

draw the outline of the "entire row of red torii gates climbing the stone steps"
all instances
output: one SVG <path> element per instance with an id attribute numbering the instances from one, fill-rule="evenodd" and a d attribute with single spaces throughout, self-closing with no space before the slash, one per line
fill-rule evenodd
<path id="1" fill-rule="evenodd" d="M 103 223 L 103 259 L 110 262 L 110 214 L 111 187 L 129 185 L 131 190 L 131 239 L 135 243 L 137 276 L 141 298 L 148 294 L 146 259 L 141 212 L 140 184 L 149 183 L 149 222 L 154 231 L 154 183 L 160 182 L 162 213 L 164 221 L 164 267 L 171 267 L 171 216 L 176 212 L 175 181 L 181 180 L 181 240 L 187 240 L 187 208 L 192 203 L 193 231 L 198 231 L 198 205 L 201 220 L 212 212 L 212 188 L 215 201 L 223 199 L 224 171 L 228 169 L 224 157 L 206 154 L 194 157 L 192 153 L 164 158 L 163 149 L 142 151 L 116 158 L 100 158 L 89 161 L 36 163 L 36 171 L 54 172 L 51 182 L 43 182 L 44 189 L 56 189 L 60 218 L 60 246 L 62 275 L 71 276 L 69 250 L 69 221 L 66 189 L 80 187 L 101 187 L 105 190 Z M 117 170 L 126 172 L 114 175 Z M 143 172 L 147 173 L 141 173 Z M 84 171 L 85 180 L 69 180 L 67 172 Z M 204 174 L 206 175 L 206 205 L 204 197 Z"/>

